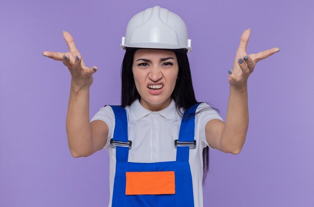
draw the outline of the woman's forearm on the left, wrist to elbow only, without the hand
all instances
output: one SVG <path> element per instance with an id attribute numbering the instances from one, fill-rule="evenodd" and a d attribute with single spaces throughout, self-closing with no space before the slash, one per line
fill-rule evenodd
<path id="1" fill-rule="evenodd" d="M 89 122 L 89 86 L 77 87 L 72 80 L 66 130 L 69 148 L 74 157 L 87 156 L 93 150 Z"/>

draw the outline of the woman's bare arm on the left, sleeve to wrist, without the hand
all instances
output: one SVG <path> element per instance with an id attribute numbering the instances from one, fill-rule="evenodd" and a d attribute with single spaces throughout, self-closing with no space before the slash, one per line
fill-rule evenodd
<path id="1" fill-rule="evenodd" d="M 74 157 L 89 156 L 106 144 L 107 124 L 102 120 L 89 122 L 89 88 L 77 91 L 71 85 L 66 129 Z"/>

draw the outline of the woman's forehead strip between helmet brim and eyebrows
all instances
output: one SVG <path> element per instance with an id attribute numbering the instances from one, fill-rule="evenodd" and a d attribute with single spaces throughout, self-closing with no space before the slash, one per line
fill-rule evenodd
<path id="1" fill-rule="evenodd" d="M 160 58 L 160 57 L 168 57 L 171 56 L 173 58 L 176 58 L 176 53 L 171 50 L 165 50 L 165 49 L 146 49 L 146 48 L 140 48 L 137 49 L 134 53 L 134 58 L 139 57 L 150 57 L 150 58 Z"/>

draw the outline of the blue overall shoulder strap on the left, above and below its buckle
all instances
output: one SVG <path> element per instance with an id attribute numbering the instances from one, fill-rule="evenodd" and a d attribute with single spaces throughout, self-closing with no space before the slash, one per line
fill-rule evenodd
<path id="1" fill-rule="evenodd" d="M 115 117 L 115 126 L 113 132 L 114 141 L 128 141 L 127 136 L 127 115 L 126 109 L 120 105 L 110 105 Z M 127 162 L 128 159 L 128 147 L 116 146 L 116 161 Z"/>

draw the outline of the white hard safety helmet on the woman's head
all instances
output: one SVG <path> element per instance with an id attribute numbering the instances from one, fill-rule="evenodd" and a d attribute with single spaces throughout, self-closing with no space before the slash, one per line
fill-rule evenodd
<path id="1" fill-rule="evenodd" d="M 192 51 L 185 22 L 174 12 L 158 5 L 135 14 L 129 20 L 120 46 L 122 49 L 137 47 Z"/>

